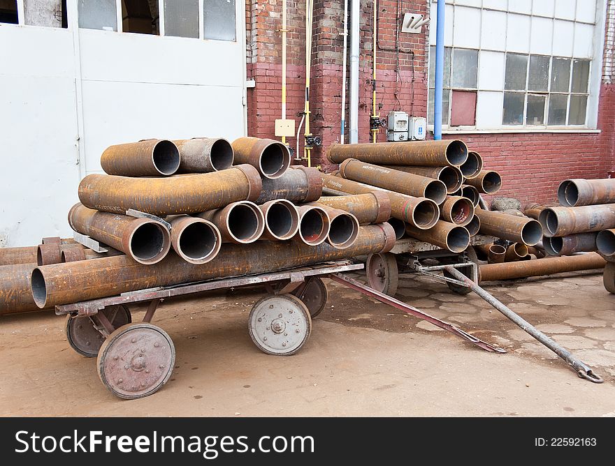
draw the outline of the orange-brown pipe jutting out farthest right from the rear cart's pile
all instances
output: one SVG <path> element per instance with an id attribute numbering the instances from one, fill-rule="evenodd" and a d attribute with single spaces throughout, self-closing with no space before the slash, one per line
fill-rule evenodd
<path id="1" fill-rule="evenodd" d="M 480 218 L 482 234 L 490 234 L 514 243 L 534 246 L 542 239 L 542 227 L 533 218 L 523 218 L 507 213 L 476 209 Z"/>

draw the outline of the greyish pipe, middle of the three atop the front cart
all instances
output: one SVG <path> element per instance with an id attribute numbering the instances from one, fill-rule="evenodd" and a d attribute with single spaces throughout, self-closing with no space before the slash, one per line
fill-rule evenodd
<path id="1" fill-rule="evenodd" d="M 194 137 L 173 141 L 180 151 L 178 173 L 209 173 L 233 166 L 235 155 L 224 137 Z"/>

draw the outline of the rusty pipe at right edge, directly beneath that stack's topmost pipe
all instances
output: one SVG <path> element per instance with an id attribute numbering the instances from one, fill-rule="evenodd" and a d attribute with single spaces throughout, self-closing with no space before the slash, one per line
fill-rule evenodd
<path id="1" fill-rule="evenodd" d="M 549 207 L 538 217 L 544 236 L 600 232 L 615 228 L 615 204 L 581 207 Z"/>

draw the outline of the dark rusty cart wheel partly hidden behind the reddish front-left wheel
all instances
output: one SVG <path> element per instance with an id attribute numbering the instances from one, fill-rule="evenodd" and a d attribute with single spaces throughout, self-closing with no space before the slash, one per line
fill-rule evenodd
<path id="1" fill-rule="evenodd" d="M 114 329 L 130 324 L 132 318 L 126 306 L 108 306 L 99 311 L 104 313 Z M 71 348 L 87 358 L 95 358 L 99 354 L 101 345 L 105 341 L 102 333 L 96 330 L 94 322 L 89 317 L 71 317 L 66 320 L 66 340 Z"/>

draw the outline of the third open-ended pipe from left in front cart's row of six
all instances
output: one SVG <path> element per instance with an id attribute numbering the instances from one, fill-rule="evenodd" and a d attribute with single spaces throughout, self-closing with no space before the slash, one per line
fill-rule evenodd
<path id="1" fill-rule="evenodd" d="M 250 201 L 233 202 L 223 209 L 201 212 L 198 217 L 216 225 L 224 243 L 253 243 L 265 231 L 263 212 Z"/>

